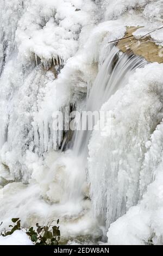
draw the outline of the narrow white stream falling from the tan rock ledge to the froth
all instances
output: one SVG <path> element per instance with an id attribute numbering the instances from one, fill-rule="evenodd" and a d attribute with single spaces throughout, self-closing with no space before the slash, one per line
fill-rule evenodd
<path id="1" fill-rule="evenodd" d="M 140 56 L 135 56 L 131 52 L 128 52 L 128 54 L 119 53 L 116 46 L 112 47 L 109 56 L 98 72 L 84 111 L 100 111 L 102 105 L 111 95 L 127 84 L 129 76 L 133 74 L 135 69 L 141 68 L 146 63 L 146 60 Z M 87 168 L 88 144 L 92 131 L 87 130 L 88 120 L 86 119 L 84 121 L 84 125 L 82 124 L 84 130 L 78 129 L 74 136 L 72 147 L 74 164 L 72 167 L 73 171 L 71 172 L 71 180 L 68 181 L 67 191 L 68 198 L 73 200 L 80 198 L 86 179 L 85 169 Z M 95 125 L 95 120 L 93 121 Z M 74 156 L 76 156 L 77 164 L 75 164 Z"/>

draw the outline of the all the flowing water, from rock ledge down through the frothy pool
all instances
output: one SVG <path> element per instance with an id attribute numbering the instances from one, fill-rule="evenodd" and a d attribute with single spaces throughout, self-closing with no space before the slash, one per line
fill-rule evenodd
<path id="1" fill-rule="evenodd" d="M 112 47 L 104 63 L 99 67 L 98 75 L 93 83 L 89 96 L 86 99 L 85 108 L 83 110 L 86 112 L 99 112 L 103 104 L 108 101 L 118 89 L 124 87 L 128 83 L 129 76 L 135 72 L 135 69 L 141 68 L 145 64 L 146 61 L 141 57 L 134 56 L 131 53 L 121 53 L 117 47 Z M 94 121 L 93 125 L 96 124 L 96 121 L 97 120 Z M 62 223 L 64 223 L 63 220 L 67 220 L 67 218 L 70 221 L 73 220 L 73 218 L 75 220 L 78 219 L 80 215 L 83 216 L 83 212 L 86 216 L 90 215 L 90 212 L 92 212 L 91 206 L 87 205 L 90 200 L 85 199 L 89 198 L 89 186 L 87 185 L 87 157 L 89 156 L 88 144 L 92 131 L 87 130 L 87 126 L 87 120 L 84 120 L 84 130 L 78 130 L 74 133 L 70 150 L 66 150 L 61 155 L 59 153 L 59 156 L 57 156 L 56 159 L 52 157 L 51 161 L 53 164 L 47 173 L 45 169 L 45 171 L 43 171 L 44 174 L 42 173 L 42 170 L 42 174 L 39 174 L 42 166 L 39 167 L 39 173 L 37 174 L 37 172 L 35 172 L 32 175 L 32 182 L 29 187 L 26 188 L 26 191 L 25 187 L 19 188 L 20 184 L 16 186 L 13 183 L 14 190 L 18 191 L 10 195 L 8 203 L 6 203 L 6 199 L 3 200 L 1 211 L 3 219 L 9 221 L 10 216 L 14 214 L 14 217 L 21 217 L 25 222 L 26 216 L 24 217 L 23 212 L 26 211 L 28 219 L 30 219 L 29 216 L 33 216 L 33 220 L 35 214 L 30 212 L 30 206 L 28 206 L 30 202 L 29 198 L 31 198 L 32 205 L 38 205 L 38 209 L 45 207 L 46 210 L 44 211 L 48 212 L 47 216 L 51 216 L 51 214 L 52 216 L 60 216 L 60 218 L 62 218 Z M 43 175 L 43 179 L 41 178 L 41 175 Z M 35 179 L 38 182 L 37 184 L 35 184 Z M 34 187 L 30 188 L 33 186 L 33 182 Z M 53 200 L 52 202 L 57 202 L 57 204 L 52 204 L 51 210 L 49 209 L 49 205 L 45 205 L 45 203 L 42 202 L 42 199 L 40 200 L 40 188 L 41 193 L 43 194 L 43 199 L 47 200 L 48 196 L 48 200 L 50 198 Z M 20 194 L 20 191 L 22 190 L 24 190 L 24 192 L 21 193 L 21 196 L 19 196 L 18 199 L 16 199 L 17 194 Z M 5 193 L 8 198 L 8 191 Z M 33 198 L 36 198 L 34 203 Z M 43 205 L 41 206 L 41 204 Z M 55 214 L 53 214 L 53 211 Z M 42 210 L 40 212 L 42 212 Z M 36 210 L 36 216 L 40 215 L 40 212 L 38 213 Z M 49 214 L 49 212 L 51 212 L 51 214 Z M 42 215 L 40 219 L 42 220 Z M 85 221 L 85 225 L 91 223 L 90 220 L 93 219 L 89 216 L 86 220 L 87 222 Z M 74 222 L 74 224 L 75 223 L 76 222 Z M 66 226 L 66 224 L 63 225 Z M 91 228 L 91 230 L 93 229 Z M 79 233 L 80 232 L 81 224 Z"/>

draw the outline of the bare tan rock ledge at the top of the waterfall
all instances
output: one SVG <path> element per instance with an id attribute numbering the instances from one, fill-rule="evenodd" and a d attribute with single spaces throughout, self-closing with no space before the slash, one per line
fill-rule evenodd
<path id="1" fill-rule="evenodd" d="M 133 35 L 133 33 L 140 27 L 127 27 L 124 38 Z M 163 47 L 156 45 L 152 41 L 150 35 L 138 40 L 135 36 L 131 36 L 126 39 L 122 39 L 118 42 L 117 47 L 122 52 L 127 50 L 133 51 L 135 54 L 144 57 L 148 62 L 163 63 Z"/>

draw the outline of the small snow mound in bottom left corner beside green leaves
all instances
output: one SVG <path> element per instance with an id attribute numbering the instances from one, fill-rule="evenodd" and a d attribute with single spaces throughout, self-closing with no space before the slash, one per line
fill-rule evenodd
<path id="1" fill-rule="evenodd" d="M 12 235 L 0 236 L 0 245 L 33 245 L 26 233 L 16 230 Z"/>

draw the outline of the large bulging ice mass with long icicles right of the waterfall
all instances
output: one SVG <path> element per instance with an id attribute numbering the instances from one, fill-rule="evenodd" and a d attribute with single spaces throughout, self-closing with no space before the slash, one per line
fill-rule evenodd
<path id="1" fill-rule="evenodd" d="M 149 170 L 148 174 L 147 170 L 140 170 L 146 145 L 162 118 L 162 71 L 162 64 L 155 63 L 137 69 L 129 83 L 102 107 L 110 112 L 106 120 L 110 131 L 104 134 L 103 130 L 93 131 L 89 145 L 93 206 L 108 226 L 137 204 L 139 180 L 142 187 L 144 182 L 152 180 Z"/>

